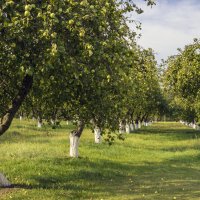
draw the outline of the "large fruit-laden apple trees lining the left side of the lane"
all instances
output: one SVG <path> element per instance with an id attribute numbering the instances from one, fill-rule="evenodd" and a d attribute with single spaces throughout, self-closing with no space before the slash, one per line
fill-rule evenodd
<path id="1" fill-rule="evenodd" d="M 163 110 L 153 52 L 127 26 L 131 11 L 141 13 L 128 0 L 1 1 L 0 135 L 17 112 L 71 120 L 76 157 L 86 125 L 112 142 L 119 123 Z"/>

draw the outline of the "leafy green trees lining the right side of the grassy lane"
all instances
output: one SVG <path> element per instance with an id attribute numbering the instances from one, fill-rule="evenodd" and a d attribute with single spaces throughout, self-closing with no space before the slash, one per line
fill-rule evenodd
<path id="1" fill-rule="evenodd" d="M 173 116 L 195 127 L 200 123 L 200 41 L 179 49 L 166 65 L 164 88 Z"/>

